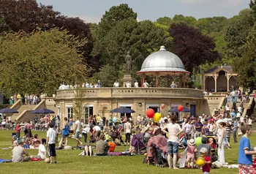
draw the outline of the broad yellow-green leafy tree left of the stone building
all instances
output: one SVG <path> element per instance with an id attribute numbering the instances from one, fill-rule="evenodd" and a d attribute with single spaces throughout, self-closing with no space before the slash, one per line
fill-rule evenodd
<path id="1" fill-rule="evenodd" d="M 67 30 L 7 34 L 0 41 L 0 91 L 53 94 L 62 82 L 78 83 L 89 72 L 78 51 L 86 40 Z"/>

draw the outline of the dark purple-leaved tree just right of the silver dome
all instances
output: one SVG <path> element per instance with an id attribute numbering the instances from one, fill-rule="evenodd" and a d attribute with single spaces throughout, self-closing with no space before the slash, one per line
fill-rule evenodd
<path id="1" fill-rule="evenodd" d="M 193 72 L 200 64 L 211 63 L 220 58 L 219 53 L 214 50 L 214 39 L 202 35 L 199 30 L 184 23 L 173 23 L 169 32 L 173 37 L 171 50 L 181 58 L 187 71 Z"/>

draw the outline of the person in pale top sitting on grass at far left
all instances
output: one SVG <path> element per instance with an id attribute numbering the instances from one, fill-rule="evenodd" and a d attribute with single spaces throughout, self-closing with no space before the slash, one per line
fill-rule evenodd
<path id="1" fill-rule="evenodd" d="M 25 156 L 23 156 L 25 155 Z M 29 162 L 30 157 L 23 147 L 23 142 L 18 140 L 18 146 L 12 150 L 12 162 Z"/>

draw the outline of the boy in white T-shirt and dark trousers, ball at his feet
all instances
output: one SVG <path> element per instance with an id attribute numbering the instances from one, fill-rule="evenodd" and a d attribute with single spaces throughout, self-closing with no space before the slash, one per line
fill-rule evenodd
<path id="1" fill-rule="evenodd" d="M 47 140 L 46 145 L 48 145 L 49 151 L 50 151 L 50 164 L 53 163 L 53 157 L 54 157 L 54 163 L 57 163 L 56 159 L 56 149 L 55 149 L 55 143 L 56 143 L 56 131 L 53 129 L 53 123 L 49 124 L 50 128 L 47 132 Z"/>

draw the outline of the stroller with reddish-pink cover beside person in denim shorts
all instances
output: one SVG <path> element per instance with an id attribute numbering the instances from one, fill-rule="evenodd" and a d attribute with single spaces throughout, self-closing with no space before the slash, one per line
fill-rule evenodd
<path id="1" fill-rule="evenodd" d="M 158 167 L 167 167 L 167 139 L 165 136 L 154 136 L 148 140 L 147 156 L 143 163 L 154 164 Z"/>

